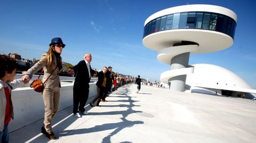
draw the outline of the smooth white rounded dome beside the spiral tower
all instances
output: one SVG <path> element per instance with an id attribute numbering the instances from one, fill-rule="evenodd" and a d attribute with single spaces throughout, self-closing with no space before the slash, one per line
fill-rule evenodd
<path id="1" fill-rule="evenodd" d="M 213 64 L 194 64 L 194 73 L 187 74 L 186 85 L 217 89 L 252 87 L 237 74 Z"/>

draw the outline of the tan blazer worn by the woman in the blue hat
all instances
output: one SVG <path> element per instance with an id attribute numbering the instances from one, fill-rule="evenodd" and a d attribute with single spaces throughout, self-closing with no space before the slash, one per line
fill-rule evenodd
<path id="1" fill-rule="evenodd" d="M 57 65 L 57 58 L 55 55 L 53 55 L 54 61 L 53 65 L 51 66 L 46 66 L 47 64 L 47 53 L 42 54 L 41 59 L 30 69 L 28 69 L 28 72 L 31 74 L 35 74 L 37 71 L 40 69 L 44 68 L 44 77 L 43 77 L 43 82 L 50 76 L 52 71 L 56 68 Z M 60 57 L 61 58 L 61 57 Z M 62 62 L 62 60 L 61 60 Z M 63 67 L 63 66 L 62 66 Z M 62 68 L 63 69 L 63 68 Z M 61 70 L 60 70 L 61 71 Z M 55 87 L 60 87 L 60 77 L 59 77 L 59 68 L 57 68 L 47 80 L 47 82 L 44 84 L 45 88 L 55 88 Z M 40 71 L 41 72 L 41 71 Z"/>

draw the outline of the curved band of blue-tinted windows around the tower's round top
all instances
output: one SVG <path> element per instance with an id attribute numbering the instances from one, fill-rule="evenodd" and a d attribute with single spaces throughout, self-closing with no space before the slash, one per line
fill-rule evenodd
<path id="1" fill-rule="evenodd" d="M 181 12 L 149 21 L 143 38 L 151 33 L 172 29 L 204 29 L 225 33 L 234 39 L 236 21 L 229 16 L 210 12 Z"/>

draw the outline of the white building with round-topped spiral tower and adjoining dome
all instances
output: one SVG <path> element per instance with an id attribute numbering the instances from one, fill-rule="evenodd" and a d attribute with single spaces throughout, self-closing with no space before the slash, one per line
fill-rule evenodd
<path id="1" fill-rule="evenodd" d="M 207 93 L 211 90 L 214 94 L 228 96 L 256 93 L 243 79 L 227 69 L 209 64 L 188 65 L 190 53 L 217 52 L 233 45 L 236 23 L 237 15 L 221 6 L 196 4 L 171 7 L 149 16 L 145 21 L 142 43 L 158 51 L 157 59 L 171 66 L 169 71 L 161 74 L 160 81 L 172 90 Z M 198 71 L 205 68 L 218 71 L 218 74 L 209 74 L 209 70 L 203 73 Z M 221 79 L 223 74 L 228 78 Z M 214 78 L 209 79 L 205 75 Z M 253 95 L 246 97 L 252 98 Z"/>

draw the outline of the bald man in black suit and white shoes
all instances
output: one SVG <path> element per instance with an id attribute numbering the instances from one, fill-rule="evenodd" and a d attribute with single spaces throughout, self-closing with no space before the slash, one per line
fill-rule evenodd
<path id="1" fill-rule="evenodd" d="M 73 113 L 76 117 L 81 117 L 81 115 L 78 113 L 78 110 L 82 114 L 88 114 L 85 111 L 84 106 L 89 97 L 89 83 L 91 76 L 95 72 L 90 66 L 91 61 L 92 55 L 90 53 L 86 53 L 84 54 L 84 60 L 80 61 L 73 68 L 76 77 L 73 87 Z"/>

